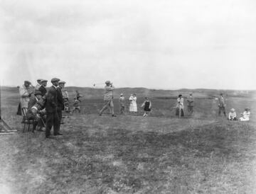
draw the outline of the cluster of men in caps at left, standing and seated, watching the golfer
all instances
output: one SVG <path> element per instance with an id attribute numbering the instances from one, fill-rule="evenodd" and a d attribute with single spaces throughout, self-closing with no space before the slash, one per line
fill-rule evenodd
<path id="1" fill-rule="evenodd" d="M 68 101 L 68 92 L 64 91 L 65 81 L 58 78 L 51 79 L 52 86 L 46 90 L 47 80 L 38 79 L 36 87 L 31 85 L 30 81 L 24 81 L 23 86 L 19 87 L 21 95 L 21 114 L 23 122 L 26 119 L 34 120 L 33 130 L 43 131 L 46 127 L 46 137 L 50 137 L 50 130 L 53 127 L 53 135 L 62 135 L 60 133 L 60 124 L 62 123 L 62 110 L 64 104 Z"/>

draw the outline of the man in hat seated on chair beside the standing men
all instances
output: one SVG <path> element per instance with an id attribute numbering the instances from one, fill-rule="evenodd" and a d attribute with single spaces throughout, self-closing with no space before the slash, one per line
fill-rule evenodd
<path id="1" fill-rule="evenodd" d="M 26 118 L 28 120 L 34 120 L 32 132 L 36 130 L 36 125 L 40 127 L 38 131 L 43 131 L 41 129 L 43 127 L 43 121 L 41 120 L 41 117 L 43 116 L 43 111 L 38 112 L 43 108 L 43 101 L 44 99 L 42 98 L 41 91 L 36 91 L 35 95 L 31 96 L 31 98 L 29 99 L 28 112 L 26 113 Z"/>

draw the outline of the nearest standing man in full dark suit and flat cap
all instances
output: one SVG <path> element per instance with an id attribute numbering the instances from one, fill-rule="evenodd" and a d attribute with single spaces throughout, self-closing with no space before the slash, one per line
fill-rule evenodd
<path id="1" fill-rule="evenodd" d="M 58 132 L 58 126 L 60 122 L 57 111 L 58 81 L 60 81 L 58 78 L 51 79 L 53 86 L 50 87 L 46 96 L 46 138 L 50 137 L 51 127 L 53 127 L 53 135 L 62 135 L 60 132 Z"/>

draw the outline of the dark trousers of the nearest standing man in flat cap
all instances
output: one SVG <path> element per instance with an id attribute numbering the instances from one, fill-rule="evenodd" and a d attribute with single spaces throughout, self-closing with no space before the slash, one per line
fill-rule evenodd
<path id="1" fill-rule="evenodd" d="M 58 126 L 60 125 L 60 120 L 58 118 L 58 113 L 46 113 L 46 137 L 50 136 L 50 130 L 53 127 L 53 134 L 58 133 Z"/>

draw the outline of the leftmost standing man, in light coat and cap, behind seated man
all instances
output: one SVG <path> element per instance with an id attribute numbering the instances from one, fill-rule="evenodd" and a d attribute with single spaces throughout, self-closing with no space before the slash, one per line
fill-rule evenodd
<path id="1" fill-rule="evenodd" d="M 26 115 L 26 112 L 28 111 L 28 101 L 29 97 L 33 94 L 33 91 L 29 88 L 31 85 L 30 81 L 24 81 L 24 84 L 19 87 L 19 93 L 21 95 L 21 113 L 23 116 Z"/>

